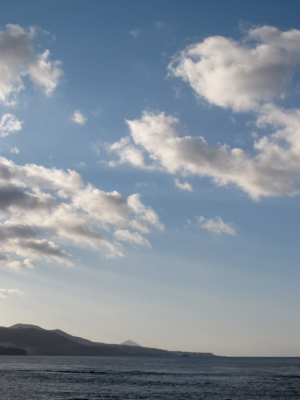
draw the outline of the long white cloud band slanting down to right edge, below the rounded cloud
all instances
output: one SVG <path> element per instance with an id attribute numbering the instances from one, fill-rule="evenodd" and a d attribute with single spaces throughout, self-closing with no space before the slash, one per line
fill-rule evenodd
<path id="1" fill-rule="evenodd" d="M 126 122 L 130 137 L 107 144 L 109 151 L 118 154 L 118 163 L 130 162 L 139 168 L 171 174 L 210 176 L 218 186 L 234 184 L 255 200 L 299 193 L 300 110 L 264 105 L 258 126 L 271 124 L 279 129 L 254 142 L 254 156 L 226 144 L 209 146 L 202 136 L 180 137 L 178 118 L 164 112 L 145 111 L 140 119 Z"/>

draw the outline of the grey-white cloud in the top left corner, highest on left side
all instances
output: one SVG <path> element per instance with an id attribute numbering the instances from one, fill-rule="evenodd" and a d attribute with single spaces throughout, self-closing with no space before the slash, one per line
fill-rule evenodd
<path id="1" fill-rule="evenodd" d="M 50 61 L 49 50 L 34 52 L 34 38 L 39 30 L 28 31 L 16 24 L 6 25 L 0 31 L 0 101 L 6 105 L 17 102 L 18 93 L 24 89 L 22 77 L 30 80 L 50 96 L 62 75 L 61 62 Z"/>

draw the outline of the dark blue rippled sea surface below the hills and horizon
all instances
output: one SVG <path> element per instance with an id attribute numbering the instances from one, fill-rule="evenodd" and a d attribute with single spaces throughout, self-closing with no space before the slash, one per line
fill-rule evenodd
<path id="1" fill-rule="evenodd" d="M 299 400 L 300 358 L 0 356 L 0 398 Z"/>

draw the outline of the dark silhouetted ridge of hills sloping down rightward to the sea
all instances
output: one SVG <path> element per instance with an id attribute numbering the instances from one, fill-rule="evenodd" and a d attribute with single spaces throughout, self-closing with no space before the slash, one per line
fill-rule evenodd
<path id="1" fill-rule="evenodd" d="M 30 326 L 26 327 L 26 326 Z M 56 333 L 58 332 L 58 333 Z M 66 337 L 68 336 L 68 337 Z M 28 355 L 43 356 L 178 356 L 183 352 L 148 348 L 142 346 L 128 346 L 122 344 L 93 343 L 82 339 L 88 344 L 81 344 L 69 338 L 76 338 L 65 332 L 44 330 L 39 326 L 16 324 L 10 328 L 0 328 L 0 345 L 21 347 Z M 188 353 L 191 356 L 214 356 L 212 353 Z"/>

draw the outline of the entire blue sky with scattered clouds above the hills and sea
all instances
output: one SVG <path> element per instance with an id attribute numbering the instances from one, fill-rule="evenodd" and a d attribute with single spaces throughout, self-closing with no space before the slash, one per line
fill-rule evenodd
<path id="1" fill-rule="evenodd" d="M 300 356 L 299 8 L 1 5 L 0 325 Z"/>

